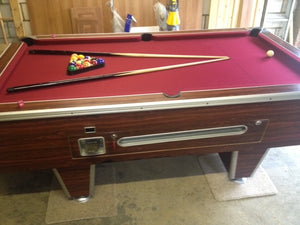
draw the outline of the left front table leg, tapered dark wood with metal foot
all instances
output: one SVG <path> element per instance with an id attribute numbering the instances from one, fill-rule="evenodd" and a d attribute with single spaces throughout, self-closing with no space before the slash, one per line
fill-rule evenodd
<path id="1" fill-rule="evenodd" d="M 66 196 L 87 201 L 93 194 L 95 165 L 53 169 Z"/>

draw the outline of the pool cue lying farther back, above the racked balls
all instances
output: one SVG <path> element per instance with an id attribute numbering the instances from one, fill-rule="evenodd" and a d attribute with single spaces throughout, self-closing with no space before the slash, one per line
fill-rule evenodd
<path id="1" fill-rule="evenodd" d="M 82 51 L 65 51 L 65 50 L 29 50 L 30 54 L 38 55 L 72 55 L 82 54 L 90 56 L 121 56 L 121 57 L 145 57 L 145 58 L 188 58 L 188 59 L 221 59 L 227 56 L 212 56 L 212 55 L 173 55 L 173 54 L 148 54 L 148 53 L 114 53 L 114 52 L 82 52 Z"/>

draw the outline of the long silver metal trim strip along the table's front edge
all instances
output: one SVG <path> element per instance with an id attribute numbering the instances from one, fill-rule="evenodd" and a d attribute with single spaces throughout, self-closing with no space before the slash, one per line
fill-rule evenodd
<path id="1" fill-rule="evenodd" d="M 255 95 L 239 95 L 212 98 L 168 100 L 156 102 L 127 103 L 114 105 L 99 105 L 87 107 L 68 107 L 40 110 L 21 110 L 12 112 L 0 112 L 1 121 L 16 121 L 29 119 L 44 119 L 57 117 L 72 117 L 86 115 L 101 115 L 108 113 L 139 112 L 150 110 L 183 109 L 195 107 L 209 107 L 235 104 L 249 104 L 262 102 L 275 102 L 286 100 L 299 100 L 300 91 L 269 93 Z"/>

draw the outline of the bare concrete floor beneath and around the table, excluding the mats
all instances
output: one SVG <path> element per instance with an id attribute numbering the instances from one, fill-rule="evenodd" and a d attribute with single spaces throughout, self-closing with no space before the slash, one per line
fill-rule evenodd
<path id="1" fill-rule="evenodd" d="M 117 215 L 58 225 L 296 225 L 300 221 L 300 147 L 271 149 L 262 163 L 277 195 L 225 202 L 214 199 L 197 156 L 107 166 L 117 171 Z M 0 225 L 46 224 L 52 178 L 51 171 L 0 174 Z M 173 187 L 165 182 L 170 179 Z M 156 181 L 160 181 L 156 188 L 147 189 L 147 183 Z"/>

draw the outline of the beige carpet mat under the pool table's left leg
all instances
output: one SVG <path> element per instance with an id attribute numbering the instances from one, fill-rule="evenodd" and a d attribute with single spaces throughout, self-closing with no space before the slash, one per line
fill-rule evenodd
<path id="1" fill-rule="evenodd" d="M 97 168 L 95 183 L 93 197 L 85 203 L 80 203 L 77 200 L 67 199 L 55 179 L 49 195 L 46 223 L 53 224 L 117 215 L 114 169 L 111 167 Z"/>

